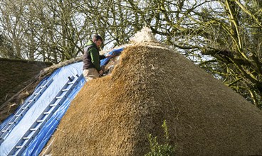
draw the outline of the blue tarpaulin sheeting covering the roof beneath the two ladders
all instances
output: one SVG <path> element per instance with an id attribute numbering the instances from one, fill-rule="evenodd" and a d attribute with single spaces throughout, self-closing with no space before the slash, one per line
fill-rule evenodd
<path id="1" fill-rule="evenodd" d="M 120 52 L 122 52 L 123 49 L 124 48 L 112 50 L 111 52 L 109 52 L 109 54 L 120 55 Z M 109 60 L 110 58 L 106 58 L 104 60 L 101 60 L 100 63 L 101 65 L 106 65 Z M 72 75 L 75 76 L 76 74 L 82 74 L 82 67 L 83 62 L 76 62 L 71 65 L 61 67 L 59 69 L 56 69 L 56 71 L 53 72 L 50 77 L 46 77 L 41 81 L 41 83 L 43 83 L 43 81 L 46 79 L 53 79 L 53 82 L 46 89 L 46 91 L 44 91 L 43 94 L 38 98 L 36 103 L 28 109 L 19 123 L 16 123 L 16 126 L 6 136 L 4 142 L 1 143 L 0 155 L 9 154 L 14 145 L 16 145 L 21 137 L 23 137 L 24 133 L 26 133 L 31 125 L 36 121 L 38 116 L 40 116 L 43 110 L 51 103 L 51 100 L 54 98 L 54 96 L 56 96 L 56 94 L 58 94 L 58 92 L 62 89 L 64 84 L 68 81 L 68 77 Z M 41 86 L 41 83 L 38 84 L 36 89 Z M 56 130 L 56 127 L 61 121 L 61 118 L 66 113 L 68 107 L 70 106 L 70 102 L 74 99 L 76 94 L 78 94 L 78 91 L 80 91 L 84 84 L 84 78 L 80 79 L 80 82 L 76 84 L 76 86 L 67 96 L 66 101 L 63 101 L 63 104 L 61 104 L 58 110 L 53 113 L 53 116 L 45 123 L 43 128 L 41 128 L 38 135 L 36 135 L 36 137 L 26 147 L 26 149 L 23 151 L 23 155 L 39 155 L 41 150 L 43 150 L 43 147 L 48 142 L 49 138 L 51 138 L 53 132 Z M 28 99 L 30 99 L 30 96 L 26 99 L 26 101 L 28 101 Z M 14 116 L 14 114 L 9 116 L 9 118 L 6 118 L 6 120 L 1 123 L 0 129 L 2 129 L 4 125 L 9 122 L 12 116 Z"/>

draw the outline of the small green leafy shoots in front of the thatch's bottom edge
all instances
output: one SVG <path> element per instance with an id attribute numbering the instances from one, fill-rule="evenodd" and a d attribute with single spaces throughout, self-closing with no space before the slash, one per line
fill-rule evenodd
<path id="1" fill-rule="evenodd" d="M 150 140 L 150 152 L 148 152 L 145 156 L 172 156 L 175 155 L 176 147 L 169 145 L 169 134 L 167 129 L 166 121 L 162 124 L 162 128 L 164 129 L 164 144 L 159 144 L 157 142 L 157 137 L 152 137 L 152 135 L 148 135 Z"/>

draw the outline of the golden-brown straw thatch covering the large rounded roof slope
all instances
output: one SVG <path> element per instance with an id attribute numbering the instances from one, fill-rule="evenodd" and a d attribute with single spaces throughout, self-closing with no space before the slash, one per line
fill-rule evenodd
<path id="1" fill-rule="evenodd" d="M 163 142 L 177 155 L 262 155 L 262 113 L 239 94 L 161 46 L 134 45 L 112 74 L 73 100 L 54 134 L 53 155 L 144 155 Z"/>

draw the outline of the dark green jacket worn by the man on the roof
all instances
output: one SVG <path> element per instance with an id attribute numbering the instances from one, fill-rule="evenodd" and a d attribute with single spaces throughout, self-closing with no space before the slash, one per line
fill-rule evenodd
<path id="1" fill-rule="evenodd" d="M 95 68 L 99 72 L 101 70 L 100 60 L 103 60 L 104 58 L 104 55 L 99 55 L 98 47 L 95 43 L 93 43 L 92 40 L 89 40 L 84 48 L 83 69 Z"/>

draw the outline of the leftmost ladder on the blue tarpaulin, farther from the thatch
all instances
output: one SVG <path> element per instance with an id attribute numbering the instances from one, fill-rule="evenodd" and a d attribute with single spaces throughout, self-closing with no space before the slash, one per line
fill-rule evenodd
<path id="1" fill-rule="evenodd" d="M 9 132 L 16 126 L 16 123 L 19 123 L 21 118 L 23 118 L 23 115 L 28 111 L 33 104 L 38 100 L 38 98 L 43 94 L 43 92 L 48 88 L 48 86 L 53 82 L 53 79 L 45 80 L 40 87 L 36 89 L 36 91 L 33 91 L 33 94 L 28 98 L 28 101 L 26 101 L 18 111 L 16 111 L 16 114 L 10 119 L 8 123 L 1 129 L 0 131 L 0 145 L 4 142 L 4 139 L 6 138 L 6 135 L 9 134 Z"/>

